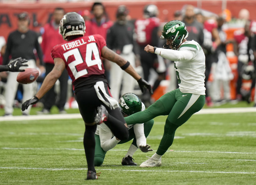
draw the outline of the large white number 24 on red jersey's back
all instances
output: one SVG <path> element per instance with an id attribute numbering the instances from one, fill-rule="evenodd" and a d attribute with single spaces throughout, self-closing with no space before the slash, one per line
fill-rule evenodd
<path id="1" fill-rule="evenodd" d="M 92 60 L 92 54 L 94 55 L 94 58 L 95 58 L 94 60 Z M 66 62 L 68 61 L 68 57 L 70 57 L 71 55 L 74 55 L 75 60 L 73 62 L 70 62 L 68 64 L 68 66 L 69 66 L 70 70 L 72 71 L 75 79 L 88 74 L 88 71 L 86 69 L 83 69 L 81 71 L 77 71 L 77 69 L 76 69 L 76 66 L 78 64 L 81 64 L 84 62 L 78 48 L 67 51 L 63 55 L 64 55 Z M 95 42 L 89 43 L 86 46 L 85 63 L 88 67 L 98 65 L 99 69 L 102 70 L 100 54 L 99 54 L 99 50 L 98 50 Z"/>

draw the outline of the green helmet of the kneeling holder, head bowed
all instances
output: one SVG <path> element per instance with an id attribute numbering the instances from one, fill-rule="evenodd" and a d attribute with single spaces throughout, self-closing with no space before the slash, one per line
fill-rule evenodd
<path id="1" fill-rule="evenodd" d="M 132 115 L 136 112 L 141 111 L 142 103 L 140 98 L 133 93 L 125 93 L 119 99 L 119 107 L 120 111 L 123 115 Z"/>

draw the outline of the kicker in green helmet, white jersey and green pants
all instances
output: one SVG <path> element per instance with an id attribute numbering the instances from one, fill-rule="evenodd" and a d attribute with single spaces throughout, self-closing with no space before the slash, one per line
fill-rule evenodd
<path id="1" fill-rule="evenodd" d="M 160 115 L 168 115 L 163 138 L 156 153 L 140 167 L 161 165 L 162 155 L 172 145 L 176 129 L 184 124 L 205 102 L 205 57 L 202 47 L 195 41 L 187 41 L 188 31 L 181 21 L 167 22 L 162 39 L 166 49 L 147 45 L 145 51 L 175 61 L 179 88 L 164 94 L 146 110 L 125 118 L 127 124 L 144 123 Z"/>

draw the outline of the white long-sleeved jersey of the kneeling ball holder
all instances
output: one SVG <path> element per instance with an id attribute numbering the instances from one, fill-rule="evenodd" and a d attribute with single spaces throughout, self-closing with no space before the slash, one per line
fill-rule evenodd
<path id="1" fill-rule="evenodd" d="M 145 110 L 145 105 L 142 103 L 141 111 Z M 139 146 L 139 144 L 143 144 L 144 146 L 147 144 L 146 137 L 144 135 L 144 124 L 133 124 L 133 125 L 127 125 L 128 130 L 133 127 L 135 136 L 136 136 L 136 144 Z M 100 125 L 97 125 L 97 129 L 95 134 L 100 136 L 100 146 L 104 151 L 108 151 L 111 148 L 115 147 L 119 140 L 116 139 L 116 137 L 112 134 L 110 128 L 105 124 L 102 123 Z"/>

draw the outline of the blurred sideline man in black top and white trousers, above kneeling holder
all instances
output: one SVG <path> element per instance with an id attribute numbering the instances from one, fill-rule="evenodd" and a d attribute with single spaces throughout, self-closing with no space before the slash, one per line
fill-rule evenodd
<path id="1" fill-rule="evenodd" d="M 107 47 L 124 59 L 130 62 L 130 65 L 135 67 L 135 54 L 138 53 L 138 49 L 135 47 L 133 39 L 134 25 L 127 21 L 128 9 L 126 6 L 121 5 L 116 12 L 117 21 L 112 27 L 109 28 L 107 34 Z M 116 100 L 120 97 L 120 90 L 122 85 L 121 94 L 124 92 L 132 92 L 134 90 L 136 81 L 131 75 L 125 73 L 123 70 L 119 70 L 119 66 L 111 62 L 110 68 L 110 87 L 111 94 Z"/>

